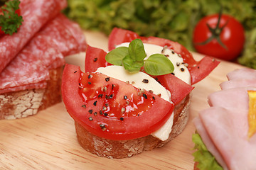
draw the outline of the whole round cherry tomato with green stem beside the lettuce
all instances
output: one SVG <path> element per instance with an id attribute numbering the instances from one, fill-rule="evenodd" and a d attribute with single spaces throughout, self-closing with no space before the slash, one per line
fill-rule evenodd
<path id="1" fill-rule="evenodd" d="M 202 18 L 193 32 L 196 51 L 221 60 L 234 60 L 238 57 L 244 42 L 242 24 L 232 16 L 221 13 Z"/>

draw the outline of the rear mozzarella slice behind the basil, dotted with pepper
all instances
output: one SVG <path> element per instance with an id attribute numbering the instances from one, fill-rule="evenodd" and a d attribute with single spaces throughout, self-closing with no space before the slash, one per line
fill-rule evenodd
<path id="1" fill-rule="evenodd" d="M 117 47 L 129 47 L 129 42 L 124 42 Z M 179 79 L 185 81 L 187 84 L 191 84 L 191 76 L 186 67 L 186 63 L 183 62 L 183 58 L 179 57 L 176 52 L 169 50 L 167 48 L 161 47 L 159 45 L 152 45 L 144 43 L 144 49 L 146 52 L 145 60 L 154 54 L 166 55 L 169 60 L 174 64 L 174 75 Z"/>

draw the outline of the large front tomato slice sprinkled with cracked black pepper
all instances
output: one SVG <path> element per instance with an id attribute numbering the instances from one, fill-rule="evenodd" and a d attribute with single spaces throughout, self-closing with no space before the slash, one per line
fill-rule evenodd
<path id="1" fill-rule="evenodd" d="M 65 65 L 62 95 L 68 113 L 93 134 L 110 140 L 150 135 L 164 125 L 174 105 L 123 81 L 82 73 Z"/>

